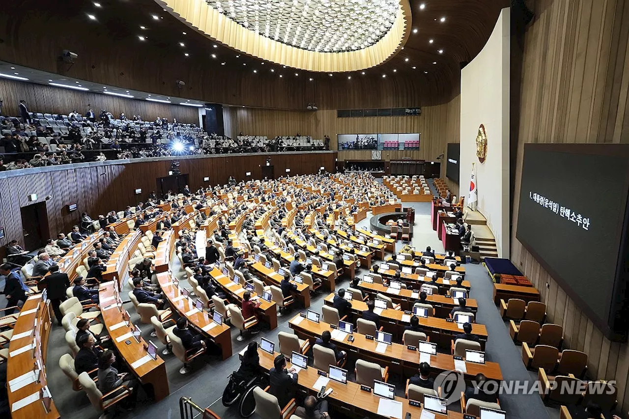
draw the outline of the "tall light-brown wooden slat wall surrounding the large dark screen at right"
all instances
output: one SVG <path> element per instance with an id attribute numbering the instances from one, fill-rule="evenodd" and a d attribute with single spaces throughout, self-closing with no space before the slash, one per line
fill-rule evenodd
<path id="1" fill-rule="evenodd" d="M 565 345 L 588 355 L 588 375 L 615 380 L 629 408 L 629 345 L 610 342 L 515 238 L 525 143 L 629 142 L 629 4 L 625 0 L 535 0 L 526 29 L 511 259 L 540 290 L 547 321 Z M 547 288 L 546 284 L 549 285 Z"/>

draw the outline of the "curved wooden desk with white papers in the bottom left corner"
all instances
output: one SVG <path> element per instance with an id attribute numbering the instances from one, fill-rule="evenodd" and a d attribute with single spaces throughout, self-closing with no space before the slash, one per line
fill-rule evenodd
<path id="1" fill-rule="evenodd" d="M 31 310 L 39 310 L 28 313 Z M 23 313 L 23 314 L 22 314 Z M 28 313 L 28 314 L 25 314 Z M 50 333 L 51 321 L 50 321 L 50 302 L 44 303 L 42 301 L 42 294 L 35 294 L 26 299 L 24 306 L 20 313 L 15 313 L 18 320 L 15 322 L 13 328 L 13 336 L 20 333 L 26 333 L 32 331 L 28 336 L 17 338 L 9 342 L 9 354 L 14 350 L 18 350 L 29 345 L 35 345 L 34 349 L 26 350 L 21 354 L 9 356 L 7 362 L 6 380 L 10 383 L 11 380 L 16 379 L 23 374 L 33 371 L 36 364 L 42 366 L 42 372 L 40 376 L 40 382 L 30 383 L 23 388 L 11 391 L 11 387 L 7 385 L 7 391 L 9 396 L 9 408 L 13 410 L 13 403 L 20 401 L 23 398 L 30 396 L 31 394 L 39 393 L 42 388 L 48 385 L 46 374 L 46 352 L 48 348 L 48 334 Z M 37 326 L 34 327 L 35 320 Z M 57 366 L 58 367 L 58 366 Z M 55 391 L 53 388 L 51 391 Z M 54 394 L 52 394 L 54 396 Z M 42 399 L 33 401 L 23 408 L 20 408 L 11 413 L 13 419 L 57 419 L 61 416 L 57 411 L 55 403 L 50 401 L 50 411 L 46 413 L 43 406 Z"/>

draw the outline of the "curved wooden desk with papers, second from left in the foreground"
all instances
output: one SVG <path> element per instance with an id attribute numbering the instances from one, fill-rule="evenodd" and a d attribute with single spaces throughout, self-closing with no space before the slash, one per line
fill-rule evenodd
<path id="1" fill-rule="evenodd" d="M 148 387 L 149 390 L 152 388 L 156 401 L 168 396 L 170 394 L 170 389 L 168 387 L 166 364 L 164 360 L 158 355 L 157 359 L 149 360 L 142 366 L 134 368 L 131 364 L 147 355 L 144 340 L 141 340 L 140 343 L 138 343 L 135 338 L 130 337 L 122 340 L 121 342 L 117 342 L 117 338 L 133 330 L 133 325 L 131 323 L 129 323 L 130 327 L 126 327 L 124 325 L 123 313 L 121 310 L 124 311 L 125 309 L 122 308 L 120 301 L 118 301 L 120 308 L 118 308 L 117 305 L 112 306 L 112 304 L 116 304 L 114 282 L 110 281 L 101 284 L 98 296 L 101 315 L 103 316 L 103 323 L 107 328 L 107 333 L 111 336 L 111 342 L 113 342 L 116 346 L 120 357 L 125 360 L 125 363 L 129 367 L 129 371 L 133 372 L 133 374 L 140 379 L 140 383 L 142 383 L 145 387 Z M 108 306 L 112 307 L 108 308 Z M 123 324 L 121 325 L 121 323 Z M 130 344 L 127 345 L 125 343 L 126 340 L 128 340 Z"/>

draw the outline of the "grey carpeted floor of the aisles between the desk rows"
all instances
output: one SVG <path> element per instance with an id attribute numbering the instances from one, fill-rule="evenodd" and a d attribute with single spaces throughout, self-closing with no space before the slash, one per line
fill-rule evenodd
<path id="1" fill-rule="evenodd" d="M 407 206 L 404 204 L 404 206 Z M 433 232 L 430 225 L 430 203 L 411 203 L 416 211 L 416 225 L 415 225 L 415 238 L 413 238 L 413 244 L 418 249 L 423 249 L 426 245 L 430 245 L 438 252 L 443 251 L 443 246 L 440 246 L 440 241 L 437 239 L 437 233 Z M 427 218 L 426 218 L 427 217 Z M 367 226 L 369 217 L 360 223 L 360 226 Z M 400 245 L 398 243 L 398 245 Z M 177 258 L 173 258 L 174 264 L 172 266 L 173 272 L 179 272 L 177 275 L 181 276 L 182 271 L 179 266 Z M 520 355 L 520 347 L 516 347 L 511 338 L 509 338 L 508 330 L 503 320 L 498 314 L 496 306 L 492 301 L 493 286 L 491 279 L 487 275 L 486 269 L 482 265 L 467 264 L 465 265 L 467 271 L 466 279 L 472 282 L 472 290 L 470 298 L 477 300 L 479 305 L 479 311 L 477 315 L 477 321 L 486 325 L 487 332 L 489 333 L 489 342 L 486 348 L 486 359 L 494 362 L 499 362 L 503 377 L 506 380 L 518 380 L 518 381 L 532 381 L 537 378 L 533 372 L 526 371 Z M 359 270 L 357 275 L 362 276 L 364 270 Z M 126 282 L 126 281 L 125 281 Z M 348 280 L 341 279 L 337 283 L 337 288 L 347 288 Z M 128 291 L 128 290 L 126 290 Z M 123 298 L 126 293 L 122 293 Z M 318 296 L 314 296 L 311 301 L 311 310 L 320 311 L 323 305 L 323 297 L 326 293 L 321 293 Z M 0 304 L 3 304 L 0 301 Z M 131 321 L 133 323 L 139 323 L 139 316 L 135 314 L 131 303 L 125 304 L 125 308 L 132 313 Z M 298 310 L 293 310 L 292 313 L 296 313 Z M 267 337 L 274 342 L 277 342 L 277 332 L 286 331 L 291 332 L 288 327 L 287 321 L 291 318 L 291 315 L 282 316 L 278 318 L 278 327 L 276 330 L 269 331 L 262 329 L 262 332 L 255 336 L 257 340 L 261 336 Z M 145 339 L 150 339 L 150 332 L 152 328 L 147 325 L 140 325 Z M 166 362 L 167 376 L 170 386 L 170 396 L 154 403 L 153 401 L 147 401 L 144 394 L 140 394 L 140 399 L 135 410 L 128 413 L 121 414 L 120 417 L 124 418 L 179 418 L 179 398 L 186 396 L 191 398 L 199 406 L 211 406 L 221 418 L 237 418 L 238 413 L 235 408 L 225 408 L 220 398 L 225 388 L 228 375 L 238 369 L 240 364 L 237 353 L 242 350 L 251 338 L 245 339 L 243 342 L 236 340 L 238 332 L 235 328 L 231 330 L 233 355 L 230 359 L 221 361 L 217 354 L 207 355 L 201 357 L 196 362 L 191 364 L 192 372 L 187 375 L 179 374 L 179 368 L 181 362 L 177 360 L 174 355 L 161 355 Z M 155 338 L 153 338 L 155 341 Z M 159 345 L 160 350 L 162 345 Z M 62 354 L 69 352 L 64 340 L 64 330 L 62 327 L 53 325 L 52 333 L 50 334 L 50 343 L 48 345 L 48 359 L 47 359 L 47 372 L 48 372 L 48 387 L 52 391 L 53 400 L 55 405 L 64 419 L 96 419 L 99 416 L 94 408 L 89 404 L 87 397 L 82 392 L 72 391 L 69 385 L 68 379 L 64 376 L 63 372 L 58 368 L 58 360 Z M 348 365 L 348 370 L 353 371 L 353 365 Z M 352 377 L 348 377 L 351 379 Z M 401 377 L 391 377 L 391 383 L 396 384 L 398 388 L 398 396 L 404 396 L 404 383 Z M 554 408 L 545 408 L 540 396 L 538 394 L 527 395 L 501 395 L 500 396 L 501 407 L 508 412 L 508 418 L 558 418 L 559 411 Z M 453 410 L 459 410 L 458 405 L 451 405 Z M 332 413 L 333 417 L 341 417 Z M 255 417 L 255 415 L 253 416 Z"/>

